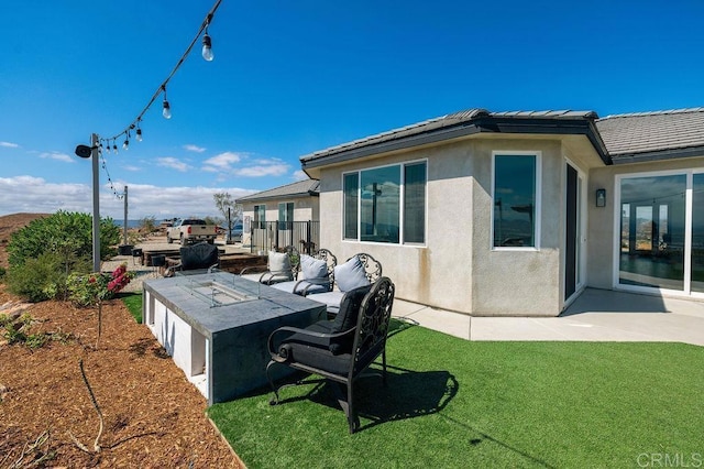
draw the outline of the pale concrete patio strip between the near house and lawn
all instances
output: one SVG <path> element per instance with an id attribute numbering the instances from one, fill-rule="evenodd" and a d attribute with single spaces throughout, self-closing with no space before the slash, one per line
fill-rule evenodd
<path id="1" fill-rule="evenodd" d="M 396 299 L 393 315 L 466 340 L 675 341 L 704 346 L 704 302 L 586 288 L 559 317 L 476 317 Z"/>

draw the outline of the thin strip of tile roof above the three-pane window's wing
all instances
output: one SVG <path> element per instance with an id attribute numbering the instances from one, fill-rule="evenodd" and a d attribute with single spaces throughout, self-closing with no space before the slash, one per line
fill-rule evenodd
<path id="1" fill-rule="evenodd" d="M 598 116 L 594 111 L 571 111 L 571 110 L 546 110 L 546 111 L 507 111 L 507 112 L 490 112 L 486 109 L 473 108 L 438 118 L 428 119 L 418 123 L 365 137 L 352 142 L 330 146 L 324 150 L 301 156 L 300 161 L 306 162 L 318 157 L 341 153 L 348 150 L 354 150 L 363 146 L 370 146 L 378 143 L 399 140 L 421 133 L 440 130 L 443 128 L 459 127 L 463 123 L 470 123 L 481 118 L 507 118 L 507 119 L 596 119 Z"/>

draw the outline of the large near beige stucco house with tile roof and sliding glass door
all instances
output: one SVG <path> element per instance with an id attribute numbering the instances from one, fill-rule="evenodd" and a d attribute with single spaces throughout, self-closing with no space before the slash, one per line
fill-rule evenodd
<path id="1" fill-rule="evenodd" d="M 322 247 L 372 254 L 400 298 L 557 316 L 586 286 L 704 297 L 704 108 L 472 109 L 300 161 Z"/>

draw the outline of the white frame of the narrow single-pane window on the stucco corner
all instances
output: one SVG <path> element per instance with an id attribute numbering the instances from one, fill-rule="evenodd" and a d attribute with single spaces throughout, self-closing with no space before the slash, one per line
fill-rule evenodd
<path id="1" fill-rule="evenodd" d="M 535 211 L 532 223 L 534 246 L 494 246 L 496 206 L 496 157 L 497 156 L 532 156 L 535 157 Z M 539 150 L 494 150 L 492 151 L 492 193 L 491 193 L 491 234 L 488 238 L 492 251 L 540 251 L 540 226 L 542 214 L 542 152 Z"/>

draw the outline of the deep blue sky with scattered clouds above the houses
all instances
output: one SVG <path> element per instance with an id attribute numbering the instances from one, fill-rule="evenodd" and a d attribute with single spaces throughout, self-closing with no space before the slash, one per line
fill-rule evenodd
<path id="1" fill-rule="evenodd" d="M 0 3 L 0 215 L 91 211 L 91 133 L 146 106 L 215 0 Z M 614 113 L 704 106 L 704 2 L 222 0 L 143 142 L 105 154 L 101 215 L 217 215 L 297 181 L 299 157 L 470 108 Z M 132 135 L 134 137 L 134 135 Z M 110 179 L 108 179 L 108 174 Z"/>

